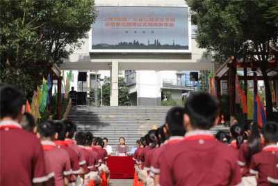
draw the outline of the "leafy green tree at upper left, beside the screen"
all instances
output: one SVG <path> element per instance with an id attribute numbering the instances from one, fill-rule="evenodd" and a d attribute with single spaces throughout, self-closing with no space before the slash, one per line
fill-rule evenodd
<path id="1" fill-rule="evenodd" d="M 60 64 L 95 20 L 92 0 L 0 0 L 0 81 L 31 95 L 47 67 Z"/>

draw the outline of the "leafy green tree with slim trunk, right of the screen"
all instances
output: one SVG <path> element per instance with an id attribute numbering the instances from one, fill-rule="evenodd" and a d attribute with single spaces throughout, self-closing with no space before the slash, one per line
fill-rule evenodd
<path id="1" fill-rule="evenodd" d="M 270 44 L 277 45 L 278 25 L 266 17 L 278 1 L 213 1 L 188 0 L 197 24 L 199 47 L 212 52 L 215 61 L 257 61 L 264 77 L 265 100 L 268 118 L 272 118 L 272 97 L 267 76 Z"/>

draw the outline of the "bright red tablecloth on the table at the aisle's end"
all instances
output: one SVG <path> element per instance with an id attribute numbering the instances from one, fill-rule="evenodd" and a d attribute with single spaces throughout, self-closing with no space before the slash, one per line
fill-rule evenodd
<path id="1" fill-rule="evenodd" d="M 108 157 L 107 165 L 111 179 L 133 179 L 134 161 L 132 156 L 110 156 Z"/>

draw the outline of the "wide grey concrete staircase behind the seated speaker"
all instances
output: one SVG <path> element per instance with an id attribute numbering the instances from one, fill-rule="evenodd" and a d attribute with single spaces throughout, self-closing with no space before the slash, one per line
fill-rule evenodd
<path id="1" fill-rule="evenodd" d="M 170 107 L 72 107 L 69 119 L 76 123 L 78 130 L 90 131 L 95 137 L 107 137 L 115 148 L 119 137 L 125 137 L 126 144 L 135 146 L 136 140 L 161 126 Z M 229 130 L 227 127 L 214 127 Z"/>

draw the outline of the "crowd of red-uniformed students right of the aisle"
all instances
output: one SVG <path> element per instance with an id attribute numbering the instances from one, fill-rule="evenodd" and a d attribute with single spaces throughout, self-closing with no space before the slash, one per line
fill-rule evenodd
<path id="1" fill-rule="evenodd" d="M 218 101 L 208 93 L 170 109 L 165 125 L 138 140 L 133 185 L 278 185 L 278 123 L 261 131 L 234 123 L 214 136 L 218 121 Z"/>

